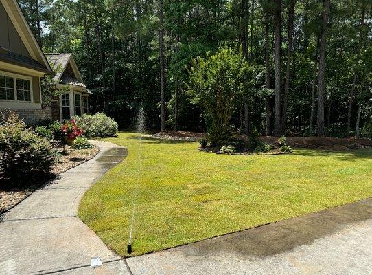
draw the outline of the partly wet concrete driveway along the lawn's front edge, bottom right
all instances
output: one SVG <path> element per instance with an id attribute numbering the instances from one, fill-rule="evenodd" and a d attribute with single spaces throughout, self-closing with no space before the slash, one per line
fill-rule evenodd
<path id="1" fill-rule="evenodd" d="M 126 261 L 135 275 L 371 275 L 372 199 Z"/>

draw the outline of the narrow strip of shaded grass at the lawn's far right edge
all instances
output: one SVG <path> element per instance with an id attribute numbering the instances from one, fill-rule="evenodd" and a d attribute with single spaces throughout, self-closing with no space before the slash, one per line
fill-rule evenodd
<path id="1" fill-rule="evenodd" d="M 345 161 L 356 161 L 358 159 L 371 159 L 372 149 L 357 149 L 348 151 L 325 151 L 316 149 L 297 148 L 292 155 L 304 157 L 336 157 Z"/>

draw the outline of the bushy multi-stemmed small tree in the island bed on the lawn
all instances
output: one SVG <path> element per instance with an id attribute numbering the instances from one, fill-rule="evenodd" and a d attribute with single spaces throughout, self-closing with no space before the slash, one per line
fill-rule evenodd
<path id="1" fill-rule="evenodd" d="M 223 145 L 231 138 L 231 113 L 242 100 L 247 72 L 248 63 L 242 54 L 229 47 L 192 62 L 188 93 L 191 102 L 205 110 L 209 141 L 213 145 Z"/>

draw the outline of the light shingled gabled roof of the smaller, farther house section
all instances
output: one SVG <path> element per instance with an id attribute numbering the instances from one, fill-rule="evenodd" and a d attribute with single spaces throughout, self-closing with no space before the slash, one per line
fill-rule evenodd
<path id="1" fill-rule="evenodd" d="M 55 83 L 86 87 L 72 54 L 51 53 L 45 54 L 45 56 L 47 56 L 49 63 L 56 71 L 56 74 L 53 77 Z M 71 65 L 74 76 L 64 74 L 68 65 Z"/>

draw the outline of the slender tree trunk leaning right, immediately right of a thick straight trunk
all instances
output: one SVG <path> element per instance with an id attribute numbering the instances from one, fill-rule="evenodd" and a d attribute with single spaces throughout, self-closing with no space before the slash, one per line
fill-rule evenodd
<path id="1" fill-rule="evenodd" d="M 290 86 L 290 62 L 292 58 L 292 38 L 293 38 L 293 18 L 294 18 L 294 0 L 290 0 L 290 10 L 288 18 L 288 53 L 286 68 L 286 85 L 284 86 L 283 111 L 281 116 L 281 133 L 286 132 L 288 89 Z"/>

